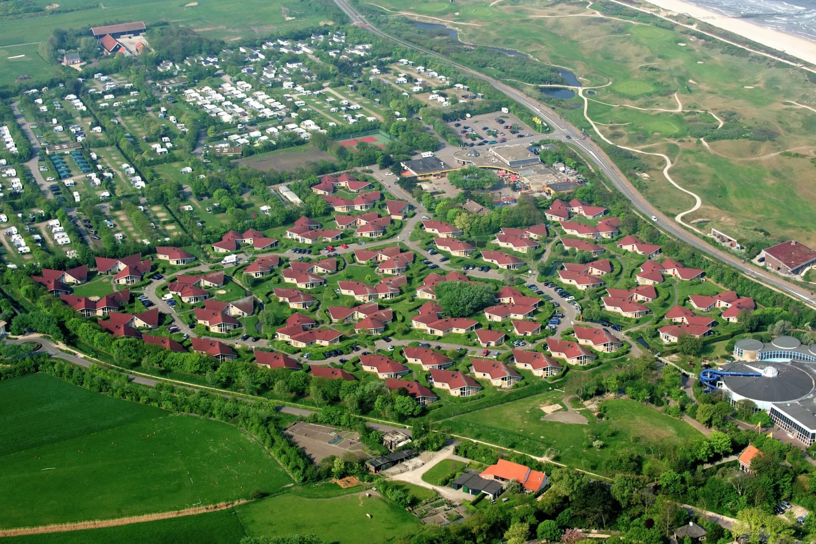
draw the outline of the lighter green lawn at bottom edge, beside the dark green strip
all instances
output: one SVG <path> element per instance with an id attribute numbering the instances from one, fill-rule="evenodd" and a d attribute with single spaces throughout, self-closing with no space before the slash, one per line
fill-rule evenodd
<path id="1" fill-rule="evenodd" d="M 235 509 L 250 536 L 313 533 L 328 542 L 394 542 L 419 528 L 419 520 L 375 493 L 306 499 L 290 493 Z M 371 519 L 366 517 L 371 515 Z"/>

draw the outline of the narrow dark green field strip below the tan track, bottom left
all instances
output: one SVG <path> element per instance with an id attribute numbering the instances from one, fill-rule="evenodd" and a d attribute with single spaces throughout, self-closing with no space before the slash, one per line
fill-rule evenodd
<path id="1" fill-rule="evenodd" d="M 121 527 L 11 537 L 3 544 L 237 544 L 245 536 L 235 511 L 229 509 Z"/>

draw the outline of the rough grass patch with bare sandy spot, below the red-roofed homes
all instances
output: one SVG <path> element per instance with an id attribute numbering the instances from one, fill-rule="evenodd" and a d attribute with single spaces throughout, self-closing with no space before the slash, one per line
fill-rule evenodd
<path id="1" fill-rule="evenodd" d="M 553 391 L 486 408 L 442 421 L 441 428 L 525 453 L 540 455 L 553 448 L 557 452 L 549 454 L 557 453 L 559 461 L 593 471 L 602 470 L 603 462 L 620 449 L 630 448 L 644 454 L 648 453 L 647 444 L 660 443 L 664 448 L 672 448 L 702 436 L 689 424 L 628 399 L 606 401 L 606 421 L 595 421 L 588 411 L 583 411 L 588 425 L 543 421 L 539 406 L 545 399 L 557 402 L 562 395 Z M 604 447 L 584 448 L 584 431 L 596 435 L 605 443 Z"/>

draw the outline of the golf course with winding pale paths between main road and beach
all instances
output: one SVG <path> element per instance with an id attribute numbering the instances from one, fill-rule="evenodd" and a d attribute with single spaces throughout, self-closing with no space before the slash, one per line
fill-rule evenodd
<path id="1" fill-rule="evenodd" d="M 734 48 L 726 52 L 722 42 L 668 28 L 666 21 L 655 26 L 657 19 L 619 5 L 578 0 L 547 6 L 530 0 L 377 5 L 414 20 L 450 21 L 462 42 L 515 49 L 569 69 L 585 87 L 588 117 L 602 123 L 596 128 L 606 138 L 671 158 L 672 179 L 703 200 L 685 216 L 700 230 L 713 226 L 739 239 L 762 239 L 755 230 L 762 228 L 769 242 L 795 237 L 816 243 L 816 226 L 807 220 L 816 212 L 808 198 L 814 192 L 809 158 L 816 157 L 811 150 L 816 114 L 801 106 L 816 100 L 816 91 L 801 70 L 744 51 L 730 54 Z M 512 33 L 506 31 L 509 20 Z M 534 86 L 521 88 L 551 100 L 565 118 L 600 140 L 584 118 L 582 97 L 557 100 Z M 694 205 L 663 176 L 663 158 L 635 154 L 650 176 L 639 188 L 663 212 L 674 215 Z"/>

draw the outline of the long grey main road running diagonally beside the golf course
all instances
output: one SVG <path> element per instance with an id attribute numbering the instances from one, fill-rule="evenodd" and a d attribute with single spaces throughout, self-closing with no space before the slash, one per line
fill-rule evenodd
<path id="1" fill-rule="evenodd" d="M 734 268 L 739 270 L 741 273 L 755 279 L 760 283 L 764 283 L 769 288 L 774 288 L 779 292 L 784 292 L 787 295 L 805 302 L 805 304 L 809 305 L 810 307 L 816 308 L 816 297 L 814 297 L 813 292 L 810 292 L 805 288 L 800 288 L 794 283 L 787 282 L 774 274 L 743 262 L 736 256 L 723 252 L 716 247 L 712 247 L 708 243 L 703 242 L 703 240 L 698 239 L 696 236 L 694 236 L 694 234 L 690 234 L 690 232 L 683 229 L 681 225 L 676 224 L 669 217 L 665 216 L 635 189 L 634 185 L 632 185 L 632 183 L 628 181 L 627 177 L 623 175 L 623 172 L 619 170 L 619 168 L 603 152 L 603 150 L 596 145 L 595 142 L 584 136 L 583 132 L 574 127 L 572 124 L 568 123 L 564 118 L 561 118 L 560 115 L 553 112 L 547 105 L 544 105 L 538 100 L 530 98 L 530 96 L 526 96 L 521 91 L 518 91 L 517 89 L 510 87 L 497 79 L 490 78 L 477 72 L 476 70 L 468 68 L 467 66 L 459 65 L 434 51 L 416 46 L 413 43 L 405 42 L 399 38 L 394 38 L 387 33 L 384 33 L 382 30 L 370 25 L 370 23 L 366 21 L 366 16 L 361 16 L 359 13 L 357 13 L 357 11 L 349 4 L 348 0 L 334 1 L 337 6 L 344 11 L 344 13 L 358 26 L 369 29 L 372 33 L 377 34 L 381 38 L 387 38 L 393 42 L 397 42 L 403 47 L 409 47 L 410 49 L 419 51 L 424 55 L 443 60 L 456 69 L 459 69 L 459 71 L 461 71 L 463 74 L 468 74 L 474 78 L 479 78 L 485 82 L 488 82 L 496 90 L 503 92 L 503 94 L 509 96 L 512 98 L 512 100 L 516 100 L 519 104 L 525 106 L 527 109 L 530 109 L 530 111 L 538 115 L 540 118 L 543 118 L 543 120 L 546 121 L 550 127 L 552 127 L 552 133 L 549 134 L 548 137 L 576 145 L 579 149 L 581 149 L 583 154 L 591 158 L 592 162 L 596 164 L 597 169 L 603 172 L 604 175 L 615 185 L 615 187 L 620 190 L 630 202 L 632 202 L 632 205 L 638 212 L 641 212 L 641 214 L 646 217 L 656 216 L 658 218 L 659 227 L 665 230 L 668 234 L 671 234 L 676 239 L 680 239 L 683 242 L 688 243 L 690 246 L 706 253 L 708 256 L 711 256 L 717 261 L 722 261 L 728 265 L 734 266 Z"/>

